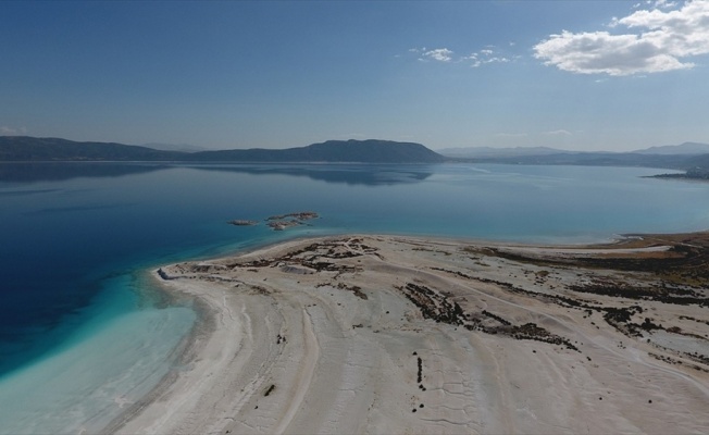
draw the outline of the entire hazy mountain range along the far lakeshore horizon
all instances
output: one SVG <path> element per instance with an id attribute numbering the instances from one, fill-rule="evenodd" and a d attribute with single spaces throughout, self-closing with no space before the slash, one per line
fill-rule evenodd
<path id="1" fill-rule="evenodd" d="M 148 161 L 249 163 L 503 163 L 586 166 L 644 166 L 687 171 L 693 178 L 709 178 L 709 145 L 685 142 L 631 152 L 583 152 L 546 147 L 449 148 L 440 153 L 421 144 L 391 140 L 327 140 L 286 149 L 219 151 L 160 150 L 115 142 L 78 142 L 60 138 L 0 136 L 0 162 Z M 676 175 L 673 175 L 676 176 Z"/>

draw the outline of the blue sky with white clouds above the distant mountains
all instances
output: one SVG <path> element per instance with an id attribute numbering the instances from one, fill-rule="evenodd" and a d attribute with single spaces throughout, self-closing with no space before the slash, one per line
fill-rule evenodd
<path id="1" fill-rule="evenodd" d="M 709 0 L 0 1 L 0 135 L 709 142 Z"/>

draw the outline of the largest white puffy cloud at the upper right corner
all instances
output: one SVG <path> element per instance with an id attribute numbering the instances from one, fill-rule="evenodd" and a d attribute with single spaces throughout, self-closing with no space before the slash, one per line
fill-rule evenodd
<path id="1" fill-rule="evenodd" d="M 709 53 L 709 1 L 689 0 L 680 9 L 673 1 L 654 1 L 652 10 L 638 10 L 613 18 L 610 27 L 627 33 L 571 33 L 551 35 L 534 47 L 545 64 L 579 74 L 614 76 L 692 69 L 686 58 Z M 635 30 L 633 33 L 632 30 Z"/>

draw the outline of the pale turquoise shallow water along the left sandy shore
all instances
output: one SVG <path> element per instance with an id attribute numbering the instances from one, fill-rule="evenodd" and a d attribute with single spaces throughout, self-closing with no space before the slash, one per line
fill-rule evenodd
<path id="1" fill-rule="evenodd" d="M 127 276 L 109 281 L 72 328 L 40 359 L 0 380 L 0 432 L 97 433 L 154 387 L 196 313 L 137 303 Z"/>

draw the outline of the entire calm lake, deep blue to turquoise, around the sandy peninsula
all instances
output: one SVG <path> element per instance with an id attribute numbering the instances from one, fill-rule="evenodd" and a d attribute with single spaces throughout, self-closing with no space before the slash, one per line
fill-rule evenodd
<path id="1" fill-rule="evenodd" d="M 709 228 L 709 184 L 642 177 L 658 172 L 0 164 L 0 433 L 100 428 L 171 369 L 195 313 L 150 288 L 149 266 L 345 232 L 581 243 Z M 322 217 L 226 224 L 303 210 Z"/>

